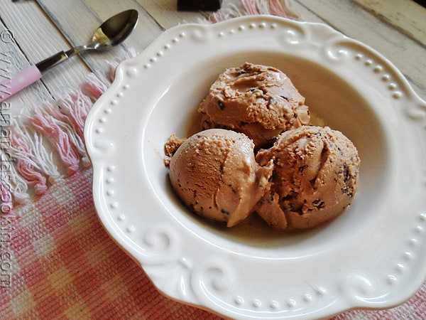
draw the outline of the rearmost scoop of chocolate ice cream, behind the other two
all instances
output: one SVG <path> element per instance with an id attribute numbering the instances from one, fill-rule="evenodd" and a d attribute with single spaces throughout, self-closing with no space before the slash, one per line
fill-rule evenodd
<path id="1" fill-rule="evenodd" d="M 310 122 L 305 98 L 287 75 L 251 63 L 219 75 L 198 111 L 204 129 L 243 132 L 256 147 L 272 144 L 281 132 Z"/>

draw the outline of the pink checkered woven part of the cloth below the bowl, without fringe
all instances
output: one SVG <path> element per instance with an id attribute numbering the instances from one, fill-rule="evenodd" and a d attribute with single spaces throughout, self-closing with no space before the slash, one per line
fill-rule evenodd
<path id="1" fill-rule="evenodd" d="M 7 219 L 0 319 L 222 319 L 163 297 L 109 238 L 94 210 L 91 169 L 55 184 Z M 348 311 L 332 319 L 425 315 L 426 284 L 396 308 Z"/>

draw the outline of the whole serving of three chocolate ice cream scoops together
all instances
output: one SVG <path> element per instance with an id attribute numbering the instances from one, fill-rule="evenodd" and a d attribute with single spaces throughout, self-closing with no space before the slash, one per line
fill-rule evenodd
<path id="1" fill-rule="evenodd" d="M 342 132 L 310 125 L 305 97 L 282 71 L 228 68 L 198 112 L 204 131 L 173 134 L 164 146 L 173 189 L 194 213 L 232 227 L 256 212 L 275 230 L 305 230 L 351 204 L 356 147 Z"/>

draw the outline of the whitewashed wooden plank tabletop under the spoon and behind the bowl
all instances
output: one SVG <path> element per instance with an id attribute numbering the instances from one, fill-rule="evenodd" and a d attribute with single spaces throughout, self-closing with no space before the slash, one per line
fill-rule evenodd
<path id="1" fill-rule="evenodd" d="M 102 21 L 126 9 L 137 9 L 140 20 L 123 44 L 105 53 L 84 53 L 50 70 L 7 100 L 11 114 L 53 100 L 80 85 L 89 72 L 107 83 L 105 60 L 126 58 L 131 48 L 141 52 L 166 29 L 200 21 L 208 14 L 178 12 L 176 0 L 0 0 L 0 75 L 4 78 L 60 50 L 87 43 Z M 293 9 L 302 21 L 327 23 L 378 50 L 426 100 L 424 7 L 411 0 L 295 0 Z"/>

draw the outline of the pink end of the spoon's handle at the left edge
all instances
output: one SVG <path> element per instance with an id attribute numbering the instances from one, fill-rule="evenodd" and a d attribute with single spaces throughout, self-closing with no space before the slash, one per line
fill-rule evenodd
<path id="1" fill-rule="evenodd" d="M 8 99 L 24 87 L 33 84 L 41 78 L 40 70 L 35 65 L 14 75 L 9 80 L 0 82 L 0 102 Z"/>

